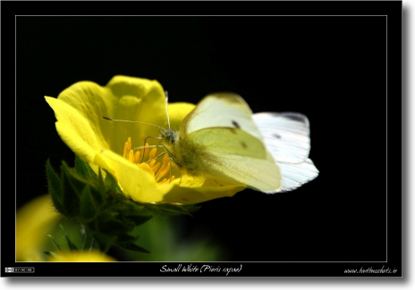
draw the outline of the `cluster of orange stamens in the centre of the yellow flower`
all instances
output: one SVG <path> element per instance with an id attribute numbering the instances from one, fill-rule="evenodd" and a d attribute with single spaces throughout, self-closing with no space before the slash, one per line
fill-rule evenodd
<path id="1" fill-rule="evenodd" d="M 156 179 L 158 185 L 169 184 L 174 180 L 174 175 L 169 178 L 165 178 L 167 173 L 170 171 L 169 155 L 165 153 L 162 165 L 162 162 L 157 162 L 157 158 L 161 155 L 157 156 L 156 154 L 157 148 L 149 148 L 148 143 L 146 143 L 146 146 L 142 150 L 134 152 L 134 150 L 131 149 L 131 137 L 128 137 L 127 142 L 125 142 L 123 158 L 131 163 L 137 164 L 140 169 L 151 173 Z M 161 178 L 163 179 L 160 180 Z"/>

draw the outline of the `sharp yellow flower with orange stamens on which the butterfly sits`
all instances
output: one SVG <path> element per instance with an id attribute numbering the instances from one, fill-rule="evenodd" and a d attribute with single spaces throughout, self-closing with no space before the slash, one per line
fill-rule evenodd
<path id="1" fill-rule="evenodd" d="M 140 203 L 202 203 L 233 196 L 244 185 L 215 186 L 205 178 L 192 178 L 160 156 L 163 151 L 146 148 L 146 137 L 158 137 L 159 128 L 137 123 L 114 122 L 136 120 L 167 128 L 165 92 L 157 80 L 115 76 L 106 87 L 89 81 L 65 89 L 58 98 L 46 96 L 55 111 L 56 129 L 64 143 L 83 161 L 89 162 L 117 178 L 125 195 Z M 171 128 L 178 130 L 194 104 L 168 105 Z M 160 141 L 148 138 L 150 145 Z"/>

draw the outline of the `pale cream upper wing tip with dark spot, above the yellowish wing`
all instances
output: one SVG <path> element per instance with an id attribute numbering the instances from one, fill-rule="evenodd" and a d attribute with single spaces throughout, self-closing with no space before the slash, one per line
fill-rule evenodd
<path id="1" fill-rule="evenodd" d="M 239 95 L 217 93 L 207 95 L 182 121 L 180 134 L 185 136 L 202 128 L 241 128 L 251 136 L 262 139 L 252 120 L 252 111 Z"/>

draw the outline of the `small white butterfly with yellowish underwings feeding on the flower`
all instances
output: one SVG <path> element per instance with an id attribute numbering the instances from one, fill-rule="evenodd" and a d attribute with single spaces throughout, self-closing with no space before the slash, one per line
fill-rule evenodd
<path id="1" fill-rule="evenodd" d="M 309 160 L 309 120 L 299 113 L 252 115 L 239 95 L 207 95 L 179 132 L 161 131 L 172 161 L 191 176 L 241 183 L 265 193 L 318 176 Z"/>

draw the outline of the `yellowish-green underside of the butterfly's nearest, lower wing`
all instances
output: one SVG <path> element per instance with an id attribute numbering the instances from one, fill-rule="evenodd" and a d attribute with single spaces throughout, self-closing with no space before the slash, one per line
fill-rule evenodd
<path id="1" fill-rule="evenodd" d="M 218 184 L 217 180 L 241 183 L 266 193 L 281 188 L 280 169 L 273 157 L 261 140 L 241 128 L 199 129 L 181 142 L 183 153 L 198 148 L 197 154 L 191 154 L 191 163 L 196 163 L 207 179 Z"/>

